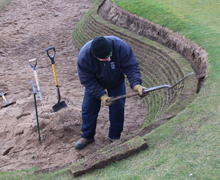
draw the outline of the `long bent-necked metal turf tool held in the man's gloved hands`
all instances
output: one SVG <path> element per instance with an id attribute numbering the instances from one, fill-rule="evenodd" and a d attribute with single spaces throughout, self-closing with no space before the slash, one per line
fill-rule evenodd
<path id="1" fill-rule="evenodd" d="M 159 89 L 164 89 L 166 88 L 167 90 L 175 87 L 177 84 L 179 84 L 180 82 L 182 82 L 184 79 L 186 79 L 187 77 L 191 76 L 194 72 L 191 72 L 190 74 L 184 76 L 182 79 L 180 79 L 178 82 L 174 83 L 173 85 L 161 85 L 161 86 L 155 86 L 155 87 L 151 87 L 151 88 L 147 88 L 147 89 L 144 89 L 143 90 L 143 95 L 146 95 L 147 93 L 149 92 L 152 92 L 152 91 L 156 91 L 156 90 L 159 90 Z M 125 95 L 121 95 L 121 96 L 117 96 L 117 97 L 113 97 L 111 100 L 109 100 L 108 102 L 112 102 L 112 101 L 116 101 L 116 100 L 119 100 L 119 99 L 124 99 L 124 98 L 129 98 L 129 97 L 132 97 L 132 96 L 136 96 L 138 95 L 139 93 L 138 92 L 132 92 L 132 93 L 128 93 L 128 94 L 125 94 Z"/>

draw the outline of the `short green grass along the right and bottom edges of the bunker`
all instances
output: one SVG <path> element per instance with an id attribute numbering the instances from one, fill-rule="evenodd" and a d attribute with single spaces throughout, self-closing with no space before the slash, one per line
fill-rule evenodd
<path id="1" fill-rule="evenodd" d="M 0 1 L 1 2 L 1 1 Z M 205 48 L 209 76 L 194 101 L 145 135 L 149 149 L 76 179 L 219 179 L 220 1 L 114 0 L 116 5 L 173 29 Z M 0 173 L 0 179 L 71 179 L 68 171 L 33 176 L 34 170 Z"/>

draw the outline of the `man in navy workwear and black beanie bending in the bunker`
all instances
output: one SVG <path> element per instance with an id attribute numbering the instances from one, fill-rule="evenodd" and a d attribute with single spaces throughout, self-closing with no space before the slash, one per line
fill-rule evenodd
<path id="1" fill-rule="evenodd" d="M 126 94 L 125 75 L 134 91 L 142 96 L 141 73 L 131 47 L 114 36 L 96 37 L 80 50 L 77 68 L 85 86 L 82 104 L 82 135 L 75 149 L 95 141 L 95 129 L 101 101 L 109 106 L 109 141 L 120 139 L 124 125 L 125 99 L 109 102 L 113 96 Z"/>

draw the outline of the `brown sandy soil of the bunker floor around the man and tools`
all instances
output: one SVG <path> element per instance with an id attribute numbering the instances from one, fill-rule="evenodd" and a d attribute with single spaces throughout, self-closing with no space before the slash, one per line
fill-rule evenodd
<path id="1" fill-rule="evenodd" d="M 81 105 L 84 87 L 80 84 L 72 31 L 91 8 L 91 0 L 12 0 L 0 12 L 0 93 L 9 103 L 0 109 L 0 172 L 70 164 L 104 148 L 108 142 L 108 107 L 102 106 L 95 142 L 83 150 L 74 148 L 81 135 Z M 57 91 L 48 47 L 55 46 L 55 66 L 61 100 L 66 108 L 53 112 Z M 38 139 L 33 68 L 37 58 L 43 99 L 36 95 L 41 141 Z M 127 87 L 127 92 L 131 91 Z M 0 99 L 0 106 L 5 102 Z M 126 100 L 122 138 L 135 134 L 145 122 L 146 106 L 138 97 Z"/>

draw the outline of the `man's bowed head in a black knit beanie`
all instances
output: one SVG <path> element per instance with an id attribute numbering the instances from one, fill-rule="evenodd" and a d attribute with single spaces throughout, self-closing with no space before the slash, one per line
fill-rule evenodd
<path id="1" fill-rule="evenodd" d="M 92 41 L 91 52 L 98 59 L 108 59 L 112 55 L 112 46 L 103 36 L 96 37 Z"/>

